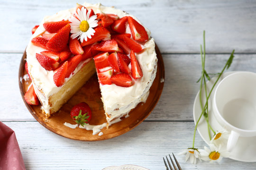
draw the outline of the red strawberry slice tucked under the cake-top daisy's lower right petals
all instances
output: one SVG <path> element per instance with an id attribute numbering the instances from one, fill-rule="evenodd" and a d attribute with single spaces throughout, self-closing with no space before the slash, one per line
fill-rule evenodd
<path id="1" fill-rule="evenodd" d="M 82 47 L 85 45 L 89 45 L 92 44 L 94 42 L 98 42 L 98 41 L 106 41 L 106 40 L 110 40 L 110 32 L 104 28 L 104 27 L 98 27 L 94 29 L 95 33 L 94 35 L 91 36 L 91 39 L 87 39 L 87 41 L 83 41 L 81 43 Z"/>

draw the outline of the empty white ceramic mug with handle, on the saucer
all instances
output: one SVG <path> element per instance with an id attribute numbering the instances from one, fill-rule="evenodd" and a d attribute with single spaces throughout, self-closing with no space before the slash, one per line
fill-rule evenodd
<path id="1" fill-rule="evenodd" d="M 239 136 L 256 136 L 256 73 L 239 71 L 225 77 L 216 87 L 212 105 L 217 121 L 230 132 L 229 152 Z"/>

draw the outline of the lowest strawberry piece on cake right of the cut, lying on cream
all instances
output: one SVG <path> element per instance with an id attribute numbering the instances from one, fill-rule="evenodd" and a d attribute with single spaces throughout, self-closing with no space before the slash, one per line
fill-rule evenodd
<path id="1" fill-rule="evenodd" d="M 129 76 L 126 73 L 120 73 L 115 76 L 112 76 L 110 80 L 115 85 L 122 86 L 122 87 L 130 87 L 133 84 L 131 76 Z"/>

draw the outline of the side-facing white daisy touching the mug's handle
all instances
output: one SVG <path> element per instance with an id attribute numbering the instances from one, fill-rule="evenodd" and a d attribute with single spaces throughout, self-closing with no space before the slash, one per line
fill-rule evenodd
<path id="1" fill-rule="evenodd" d="M 210 144 L 214 144 L 215 146 L 223 146 L 227 147 L 229 139 L 229 133 L 225 131 L 216 131 L 216 134 L 210 140 Z"/>

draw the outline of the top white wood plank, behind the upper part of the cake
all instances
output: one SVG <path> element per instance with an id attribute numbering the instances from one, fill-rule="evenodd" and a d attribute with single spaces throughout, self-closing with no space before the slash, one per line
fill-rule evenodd
<path id="1" fill-rule="evenodd" d="M 75 2 L 0 0 L 0 51 L 23 52 L 32 27 L 46 15 L 74 7 Z M 256 52 L 256 1 L 104 0 L 102 3 L 127 11 L 141 20 L 151 30 L 163 53 L 199 52 L 203 30 L 206 30 L 208 52 L 229 53 L 233 49 Z"/>

